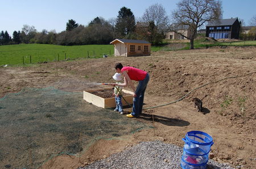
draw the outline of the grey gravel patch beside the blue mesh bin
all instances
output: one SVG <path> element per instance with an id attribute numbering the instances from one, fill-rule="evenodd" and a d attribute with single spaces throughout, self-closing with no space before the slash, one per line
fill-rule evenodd
<path id="1" fill-rule="evenodd" d="M 163 143 L 162 141 L 141 142 L 121 153 L 98 160 L 85 168 L 181 168 L 180 160 L 183 148 Z M 208 168 L 232 168 L 228 164 L 220 164 L 208 160 Z"/>

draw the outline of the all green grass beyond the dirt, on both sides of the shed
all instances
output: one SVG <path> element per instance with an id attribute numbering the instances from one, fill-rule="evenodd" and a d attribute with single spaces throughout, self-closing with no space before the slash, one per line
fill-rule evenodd
<path id="1" fill-rule="evenodd" d="M 190 44 L 178 49 L 189 49 Z M 256 41 L 236 41 L 232 43 L 205 44 L 202 40 L 195 40 L 195 48 L 205 48 L 213 46 L 256 46 Z M 151 51 L 172 50 L 170 47 L 151 47 Z M 1 65 L 22 65 L 36 64 L 38 62 L 61 61 L 74 58 L 99 58 L 104 54 L 114 54 L 113 45 L 80 45 L 80 46 L 60 46 L 49 44 L 20 44 L 20 45 L 0 45 L 0 66 Z M 31 60 L 30 60 L 31 56 Z M 24 59 L 24 61 L 23 61 Z"/>

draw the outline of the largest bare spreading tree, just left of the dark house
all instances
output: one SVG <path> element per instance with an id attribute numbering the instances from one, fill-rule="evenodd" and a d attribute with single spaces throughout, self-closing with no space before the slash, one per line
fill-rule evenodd
<path id="1" fill-rule="evenodd" d="M 205 23 L 214 22 L 222 18 L 221 1 L 218 0 L 181 0 L 177 9 L 172 12 L 172 23 L 169 31 L 174 31 L 190 40 L 190 49 L 194 48 L 197 28 Z M 189 36 L 185 36 L 178 29 L 188 27 Z"/>

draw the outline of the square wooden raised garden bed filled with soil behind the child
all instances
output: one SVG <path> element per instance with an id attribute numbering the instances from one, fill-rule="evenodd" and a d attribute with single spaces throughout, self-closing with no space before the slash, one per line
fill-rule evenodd
<path id="1" fill-rule="evenodd" d="M 86 102 L 97 105 L 102 108 L 112 108 L 115 107 L 115 98 L 112 96 L 114 92 L 113 88 L 102 88 L 95 90 L 86 90 L 84 91 L 84 100 Z M 133 92 L 123 89 L 123 98 L 130 104 L 133 105 Z M 128 105 L 125 100 L 122 98 L 122 104 Z"/>

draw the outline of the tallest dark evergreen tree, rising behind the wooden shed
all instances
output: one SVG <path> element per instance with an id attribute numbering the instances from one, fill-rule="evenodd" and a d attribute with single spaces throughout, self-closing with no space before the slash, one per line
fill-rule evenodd
<path id="1" fill-rule="evenodd" d="M 119 36 L 122 37 L 135 31 L 135 18 L 130 9 L 122 7 L 119 10 L 115 28 L 117 33 L 119 33 Z"/>

